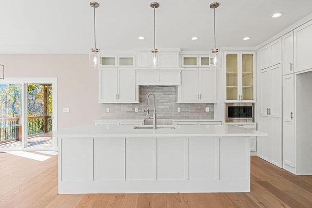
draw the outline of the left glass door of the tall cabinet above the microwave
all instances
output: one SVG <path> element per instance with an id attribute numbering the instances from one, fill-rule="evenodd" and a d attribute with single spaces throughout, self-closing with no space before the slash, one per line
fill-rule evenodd
<path id="1" fill-rule="evenodd" d="M 227 100 L 238 100 L 238 58 L 237 53 L 225 54 Z"/>

